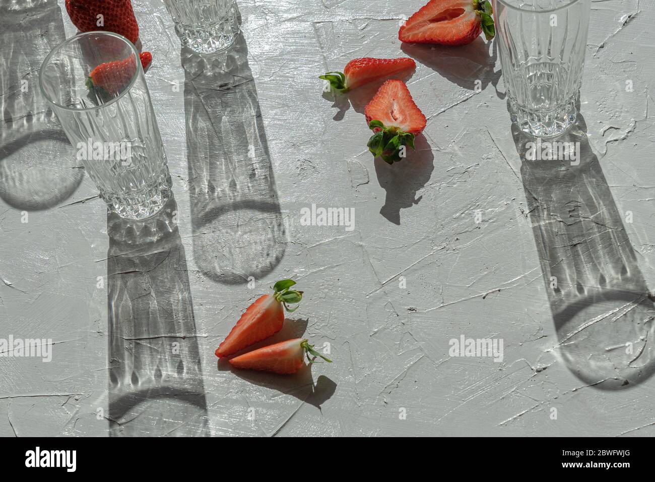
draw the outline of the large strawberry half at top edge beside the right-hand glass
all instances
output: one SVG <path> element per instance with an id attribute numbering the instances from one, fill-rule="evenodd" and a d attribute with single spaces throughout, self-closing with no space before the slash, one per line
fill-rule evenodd
<path id="1" fill-rule="evenodd" d="M 398 39 L 409 43 L 466 45 L 481 31 L 487 40 L 496 34 L 489 0 L 430 0 L 409 17 Z"/>

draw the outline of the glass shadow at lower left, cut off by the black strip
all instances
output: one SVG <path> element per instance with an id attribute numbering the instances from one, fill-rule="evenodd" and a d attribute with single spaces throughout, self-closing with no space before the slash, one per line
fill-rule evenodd
<path id="1" fill-rule="evenodd" d="M 176 210 L 107 218 L 110 436 L 210 435 Z"/>

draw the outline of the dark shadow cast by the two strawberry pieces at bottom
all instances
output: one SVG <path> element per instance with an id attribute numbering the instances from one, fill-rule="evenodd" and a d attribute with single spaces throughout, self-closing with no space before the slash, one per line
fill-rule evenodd
<path id="1" fill-rule="evenodd" d="M 263 346 L 272 345 L 274 343 L 282 342 L 284 340 L 291 340 L 293 338 L 301 338 L 307 330 L 308 319 L 284 319 L 282 330 L 278 331 L 273 336 L 257 342 L 248 348 L 245 348 L 234 356 L 248 351 L 257 350 Z M 299 371 L 290 375 L 282 375 L 271 372 L 255 371 L 255 370 L 241 370 L 236 369 L 230 365 L 229 361 L 221 358 L 217 362 L 219 371 L 231 371 L 242 380 L 246 380 L 257 386 L 276 390 L 284 395 L 293 395 L 297 399 L 313 405 L 320 410 L 321 405 L 328 400 L 337 389 L 337 384 L 327 376 L 321 375 L 316 379 L 312 377 L 312 365 L 305 365 Z M 273 398 L 277 397 L 275 395 Z"/>

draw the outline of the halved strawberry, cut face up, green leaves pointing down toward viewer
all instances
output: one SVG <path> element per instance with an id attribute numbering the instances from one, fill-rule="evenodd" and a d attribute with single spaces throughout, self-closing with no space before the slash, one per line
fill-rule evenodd
<path id="1" fill-rule="evenodd" d="M 388 80 L 364 109 L 366 123 L 375 134 L 369 151 L 393 164 L 405 157 L 405 146 L 414 148 L 415 136 L 425 129 L 426 119 L 403 81 Z"/>

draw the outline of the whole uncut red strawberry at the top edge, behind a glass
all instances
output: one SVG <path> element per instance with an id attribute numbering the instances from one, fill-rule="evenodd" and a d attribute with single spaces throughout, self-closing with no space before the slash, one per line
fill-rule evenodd
<path id="1" fill-rule="evenodd" d="M 139 38 L 130 0 L 66 0 L 66 11 L 81 32 L 113 31 L 132 43 Z"/>

